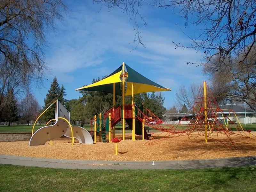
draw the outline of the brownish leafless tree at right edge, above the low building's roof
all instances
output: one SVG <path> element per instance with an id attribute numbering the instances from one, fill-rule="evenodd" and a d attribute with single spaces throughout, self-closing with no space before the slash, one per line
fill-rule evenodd
<path id="1" fill-rule="evenodd" d="M 248 47 L 248 49 L 250 49 Z M 230 60 L 222 60 L 225 63 L 220 70 L 215 71 L 219 65 L 219 58 L 204 66 L 204 73 L 208 74 L 216 83 L 215 87 L 221 89 L 220 95 L 228 101 L 246 102 L 252 109 L 256 110 L 256 46 L 251 48 L 251 52 L 240 53 L 237 57 L 233 56 Z M 244 59 L 246 57 L 246 59 Z"/>

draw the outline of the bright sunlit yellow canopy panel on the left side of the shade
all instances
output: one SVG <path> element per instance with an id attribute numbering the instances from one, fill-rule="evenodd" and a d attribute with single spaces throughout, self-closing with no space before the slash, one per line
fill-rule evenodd
<path id="1" fill-rule="evenodd" d="M 113 83 L 120 83 L 122 82 L 120 79 L 120 75 L 121 75 L 122 71 L 117 72 L 114 75 L 111 75 L 105 79 L 102 79 L 101 81 L 98 81 L 96 83 L 90 84 L 90 85 L 86 85 L 84 87 L 78 88 L 76 89 L 76 91 L 80 90 L 80 91 L 84 91 L 84 89 L 86 88 L 92 88 L 92 87 L 97 87 L 100 85 L 107 85 L 107 84 L 113 84 Z M 91 90 L 92 91 L 92 90 Z M 95 91 L 100 91 L 100 90 L 95 90 Z M 102 90 L 103 91 L 103 90 Z"/>

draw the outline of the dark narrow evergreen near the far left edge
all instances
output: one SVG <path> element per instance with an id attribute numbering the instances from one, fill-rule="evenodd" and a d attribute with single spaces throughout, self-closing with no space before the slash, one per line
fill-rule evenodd
<path id="1" fill-rule="evenodd" d="M 3 112 L 3 118 L 5 121 L 8 121 L 8 126 L 11 125 L 11 122 L 18 120 L 17 100 L 15 99 L 13 90 L 7 92 Z"/>

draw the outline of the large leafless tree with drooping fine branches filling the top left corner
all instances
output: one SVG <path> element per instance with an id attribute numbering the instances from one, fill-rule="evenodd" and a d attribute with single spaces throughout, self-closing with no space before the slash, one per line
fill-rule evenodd
<path id="1" fill-rule="evenodd" d="M 0 113 L 8 90 L 41 85 L 46 34 L 67 7 L 61 0 L 0 1 Z"/>

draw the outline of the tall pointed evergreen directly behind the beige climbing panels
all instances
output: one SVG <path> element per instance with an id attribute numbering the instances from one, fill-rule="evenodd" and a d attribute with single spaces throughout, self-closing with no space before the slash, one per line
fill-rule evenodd
<path id="1" fill-rule="evenodd" d="M 57 81 L 57 78 L 54 77 L 50 89 L 46 94 L 46 98 L 44 99 L 44 109 L 48 108 L 56 99 L 58 99 L 61 104 L 64 104 L 64 96 L 65 96 L 65 89 L 62 85 L 61 88 Z M 52 106 L 44 113 L 44 121 L 49 121 L 50 119 L 55 118 L 55 108 Z"/>

